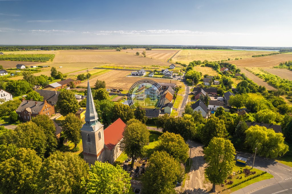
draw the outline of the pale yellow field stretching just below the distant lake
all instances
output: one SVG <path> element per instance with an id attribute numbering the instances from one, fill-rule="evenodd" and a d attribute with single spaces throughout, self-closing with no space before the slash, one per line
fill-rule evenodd
<path id="1" fill-rule="evenodd" d="M 176 62 L 179 61 L 181 63 L 188 64 L 191 61 L 194 60 L 208 60 L 208 61 L 218 61 L 218 60 L 225 60 L 225 59 L 233 59 L 235 61 L 235 58 L 239 58 L 241 61 L 242 59 L 246 58 L 252 58 L 251 56 L 257 55 L 257 54 L 269 54 L 273 53 L 270 51 L 245 51 L 245 50 L 180 50 L 178 54 L 176 54 L 172 61 Z M 276 56 L 276 55 L 274 55 Z M 240 59 L 242 58 L 242 59 Z M 256 57 L 256 58 L 262 58 L 262 57 Z M 232 61 L 232 62 L 233 62 Z M 231 61 L 230 61 L 231 62 Z"/>

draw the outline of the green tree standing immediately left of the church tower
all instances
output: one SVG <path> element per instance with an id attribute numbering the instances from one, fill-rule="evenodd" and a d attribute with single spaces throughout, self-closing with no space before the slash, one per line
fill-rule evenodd
<path id="1" fill-rule="evenodd" d="M 65 137 L 74 143 L 74 147 L 80 142 L 81 133 L 80 129 L 82 127 L 82 121 L 75 116 L 73 113 L 67 114 L 63 124 L 63 133 Z"/>

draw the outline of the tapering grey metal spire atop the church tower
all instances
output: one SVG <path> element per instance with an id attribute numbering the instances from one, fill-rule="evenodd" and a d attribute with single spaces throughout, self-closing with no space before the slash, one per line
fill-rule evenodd
<path id="1" fill-rule="evenodd" d="M 85 121 L 86 124 L 95 125 L 97 122 L 98 116 L 95 111 L 95 106 L 93 102 L 93 96 L 91 93 L 91 88 L 89 85 L 89 80 L 87 81 L 87 98 L 86 98 L 86 112 L 85 112 Z M 88 123 L 89 122 L 89 123 Z"/>

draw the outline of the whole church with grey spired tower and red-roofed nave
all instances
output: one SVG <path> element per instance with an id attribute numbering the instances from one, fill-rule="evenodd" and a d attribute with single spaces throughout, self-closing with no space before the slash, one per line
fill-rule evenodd
<path id="1" fill-rule="evenodd" d="M 98 121 L 89 81 L 87 83 L 87 98 L 85 124 L 81 128 L 84 160 L 89 165 L 95 161 L 114 163 L 121 154 L 119 142 L 123 138 L 126 124 L 119 118 L 105 130 Z"/>

